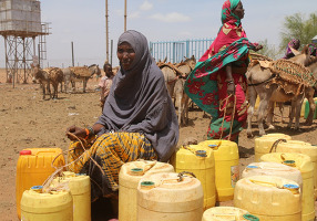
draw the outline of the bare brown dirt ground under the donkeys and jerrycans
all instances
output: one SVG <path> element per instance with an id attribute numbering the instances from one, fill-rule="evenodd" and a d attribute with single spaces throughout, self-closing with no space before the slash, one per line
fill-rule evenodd
<path id="1" fill-rule="evenodd" d="M 6 84 L 6 73 L 0 70 L 0 214 L 3 221 L 18 220 L 16 212 L 16 167 L 19 151 L 23 148 L 60 147 L 68 148 L 65 129 L 71 125 L 88 126 L 96 122 L 101 114 L 96 80 L 89 83 L 88 93 L 60 93 L 58 99 L 43 101 L 38 84 Z M 287 108 L 285 108 L 287 112 Z M 279 120 L 279 119 L 278 119 Z M 180 145 L 188 137 L 204 140 L 209 123 L 200 109 L 190 110 L 188 126 L 181 128 Z M 304 123 L 304 119 L 300 119 Z M 313 126 L 301 126 L 300 131 L 286 128 L 286 124 L 276 123 L 272 133 L 284 133 L 293 139 L 317 145 L 317 120 Z M 258 129 L 253 125 L 255 136 Z M 241 170 L 254 161 L 254 138 L 246 137 L 246 130 L 239 136 Z M 222 204 L 232 206 L 232 201 Z"/>

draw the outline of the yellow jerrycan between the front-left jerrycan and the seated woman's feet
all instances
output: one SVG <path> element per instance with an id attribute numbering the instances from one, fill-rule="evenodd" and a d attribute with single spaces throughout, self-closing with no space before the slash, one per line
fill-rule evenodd
<path id="1" fill-rule="evenodd" d="M 57 177 L 51 188 L 69 189 L 73 198 L 73 221 L 91 220 L 91 189 L 90 177 L 82 173 L 64 171 Z"/>

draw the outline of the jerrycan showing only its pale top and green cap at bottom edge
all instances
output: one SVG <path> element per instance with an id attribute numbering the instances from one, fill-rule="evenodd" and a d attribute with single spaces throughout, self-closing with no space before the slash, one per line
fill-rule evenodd
<path id="1" fill-rule="evenodd" d="M 258 218 L 248 211 L 235 207 L 214 207 L 207 209 L 202 221 L 258 221 Z"/>

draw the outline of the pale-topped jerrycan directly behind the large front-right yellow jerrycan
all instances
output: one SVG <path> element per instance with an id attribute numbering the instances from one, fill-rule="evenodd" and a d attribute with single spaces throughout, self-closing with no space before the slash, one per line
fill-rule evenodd
<path id="1" fill-rule="evenodd" d="M 301 172 L 294 167 L 279 162 L 252 162 L 243 170 L 241 178 L 253 176 L 282 177 L 295 181 L 299 185 L 300 189 L 303 188 Z"/>

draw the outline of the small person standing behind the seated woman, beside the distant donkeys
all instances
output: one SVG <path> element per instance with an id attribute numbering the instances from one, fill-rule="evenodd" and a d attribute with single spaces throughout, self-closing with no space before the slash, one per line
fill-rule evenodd
<path id="1" fill-rule="evenodd" d="M 114 77 L 114 74 L 112 72 L 112 65 L 108 62 L 103 64 L 103 71 L 105 73 L 105 76 L 103 76 L 100 82 L 100 106 L 103 110 L 104 102 L 109 95 L 111 85 L 112 85 L 112 80 Z"/>

